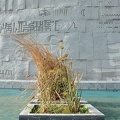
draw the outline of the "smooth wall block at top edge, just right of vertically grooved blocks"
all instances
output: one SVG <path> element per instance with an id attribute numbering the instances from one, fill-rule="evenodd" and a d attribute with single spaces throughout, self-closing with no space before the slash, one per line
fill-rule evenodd
<path id="1" fill-rule="evenodd" d="M 27 9 L 36 9 L 39 7 L 38 0 L 26 0 L 26 8 Z"/>

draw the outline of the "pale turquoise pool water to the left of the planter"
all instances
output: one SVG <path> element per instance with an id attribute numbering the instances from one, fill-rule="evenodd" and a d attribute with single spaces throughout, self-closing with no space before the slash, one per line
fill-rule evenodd
<path id="1" fill-rule="evenodd" d="M 33 91 L 0 89 L 0 120 L 18 120 Z"/>

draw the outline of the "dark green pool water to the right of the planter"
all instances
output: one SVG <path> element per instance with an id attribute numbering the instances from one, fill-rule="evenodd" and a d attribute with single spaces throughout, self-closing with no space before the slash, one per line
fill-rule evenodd
<path id="1" fill-rule="evenodd" d="M 120 120 L 120 91 L 83 91 L 82 97 L 105 114 L 105 120 Z"/>

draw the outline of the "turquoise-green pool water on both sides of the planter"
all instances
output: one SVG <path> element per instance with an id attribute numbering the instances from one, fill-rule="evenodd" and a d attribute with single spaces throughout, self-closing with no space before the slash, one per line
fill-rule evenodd
<path id="1" fill-rule="evenodd" d="M 33 91 L 0 89 L 0 120 L 18 120 Z M 80 92 L 78 92 L 80 93 Z M 120 91 L 82 91 L 82 97 L 103 112 L 105 120 L 120 120 Z"/>

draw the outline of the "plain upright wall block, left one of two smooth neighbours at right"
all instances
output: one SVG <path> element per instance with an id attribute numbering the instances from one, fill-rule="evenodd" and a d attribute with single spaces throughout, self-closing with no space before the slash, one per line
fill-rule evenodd
<path id="1" fill-rule="evenodd" d="M 81 33 L 79 37 L 80 59 L 93 59 L 92 33 Z"/>

